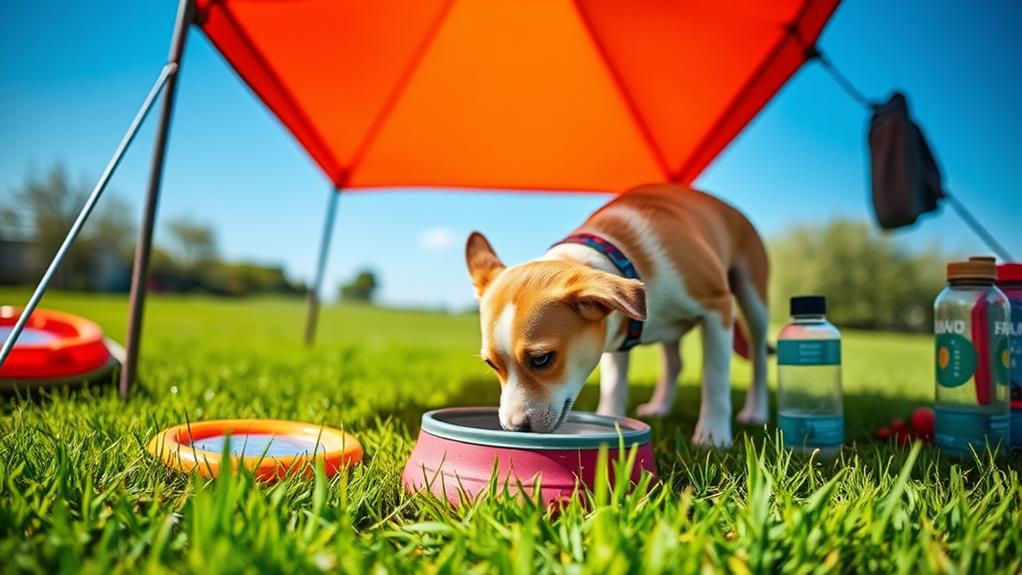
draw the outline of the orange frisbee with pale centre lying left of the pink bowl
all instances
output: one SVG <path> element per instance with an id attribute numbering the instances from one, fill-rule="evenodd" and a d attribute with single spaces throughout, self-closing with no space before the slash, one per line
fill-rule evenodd
<path id="1" fill-rule="evenodd" d="M 212 420 L 178 425 L 149 440 L 150 453 L 168 468 L 202 477 L 220 475 L 224 446 L 231 469 L 244 466 L 264 481 L 299 473 L 312 477 L 323 463 L 327 477 L 362 461 L 362 444 L 338 429 L 283 420 Z"/>

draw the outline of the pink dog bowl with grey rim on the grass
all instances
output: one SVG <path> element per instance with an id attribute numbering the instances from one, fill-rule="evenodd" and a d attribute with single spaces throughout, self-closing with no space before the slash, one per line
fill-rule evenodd
<path id="1" fill-rule="evenodd" d="M 601 446 L 608 461 L 638 445 L 632 481 L 643 470 L 656 475 L 649 426 L 628 418 L 571 412 L 553 433 L 522 433 L 501 429 L 496 408 L 452 408 L 422 416 L 422 428 L 403 482 L 410 492 L 429 490 L 452 504 L 470 498 L 490 486 L 496 466 L 499 487 L 507 482 L 517 491 L 533 493 L 538 478 L 547 505 L 570 497 L 580 482 L 593 487 Z M 610 478 L 611 481 L 613 477 Z"/>

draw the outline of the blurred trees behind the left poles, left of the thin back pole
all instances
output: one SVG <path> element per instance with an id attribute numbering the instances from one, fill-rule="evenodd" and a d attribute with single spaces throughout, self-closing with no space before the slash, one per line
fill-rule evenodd
<path id="1" fill-rule="evenodd" d="M 63 166 L 55 165 L 45 174 L 30 174 L 13 191 L 11 200 L 0 205 L 0 243 L 22 248 L 25 277 L 35 281 L 42 276 L 89 191 L 88 184 L 73 182 Z M 224 260 L 208 224 L 174 218 L 164 231 L 168 239 L 153 245 L 150 258 L 149 282 L 154 289 L 231 296 L 306 290 L 288 279 L 281 267 Z M 131 205 L 108 191 L 57 269 L 51 286 L 127 291 L 137 233 Z"/>

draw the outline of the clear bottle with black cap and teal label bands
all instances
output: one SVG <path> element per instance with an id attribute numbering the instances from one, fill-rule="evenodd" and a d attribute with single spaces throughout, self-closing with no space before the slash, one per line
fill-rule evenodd
<path id="1" fill-rule="evenodd" d="M 837 453 L 844 443 L 841 332 L 827 321 L 827 298 L 791 298 L 791 323 L 777 342 L 778 416 L 784 446 Z"/>

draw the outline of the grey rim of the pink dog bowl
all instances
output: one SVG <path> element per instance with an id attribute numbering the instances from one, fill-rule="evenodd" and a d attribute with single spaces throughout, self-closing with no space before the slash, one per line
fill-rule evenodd
<path id="1" fill-rule="evenodd" d="M 421 430 L 430 435 L 451 439 L 463 443 L 487 445 L 492 447 L 511 447 L 518 449 L 597 449 L 603 445 L 616 448 L 621 443 L 624 447 L 648 443 L 651 437 L 650 427 L 632 418 L 599 416 L 587 412 L 569 412 L 565 419 L 577 423 L 600 424 L 616 427 L 617 431 L 606 433 L 587 433 L 585 435 L 568 433 L 529 433 L 521 431 L 503 431 L 480 429 L 448 423 L 436 418 L 437 415 L 493 415 L 497 416 L 497 408 L 445 408 L 432 410 L 422 415 Z M 619 433 L 618 433 L 619 431 Z"/>

